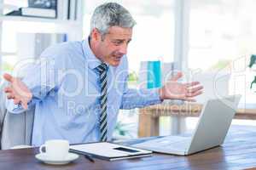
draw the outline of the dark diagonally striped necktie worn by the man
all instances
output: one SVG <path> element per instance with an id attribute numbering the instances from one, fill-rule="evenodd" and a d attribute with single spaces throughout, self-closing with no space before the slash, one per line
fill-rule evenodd
<path id="1" fill-rule="evenodd" d="M 100 116 L 100 131 L 101 131 L 101 141 L 105 142 L 108 140 L 108 114 L 107 114 L 107 70 L 108 66 L 104 63 L 96 67 L 96 70 L 100 73 L 101 82 L 101 116 Z"/>

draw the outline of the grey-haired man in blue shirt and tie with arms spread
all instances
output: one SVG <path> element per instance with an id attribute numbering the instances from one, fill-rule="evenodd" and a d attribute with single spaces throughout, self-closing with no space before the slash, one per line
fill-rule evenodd
<path id="1" fill-rule="evenodd" d="M 32 144 L 48 139 L 70 143 L 111 140 L 119 109 L 193 101 L 199 82 L 179 83 L 181 73 L 162 88 L 127 88 L 127 47 L 136 22 L 118 3 L 104 3 L 91 17 L 90 37 L 47 48 L 41 62 L 20 79 L 5 74 L 7 108 L 18 114 L 35 105 Z"/>

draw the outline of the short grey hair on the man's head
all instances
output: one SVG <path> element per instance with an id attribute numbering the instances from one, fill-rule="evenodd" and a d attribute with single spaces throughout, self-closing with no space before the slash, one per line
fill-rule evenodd
<path id="1" fill-rule="evenodd" d="M 111 26 L 132 28 L 136 25 L 129 11 L 119 3 L 104 3 L 98 6 L 90 19 L 90 32 L 96 28 L 102 36 Z"/>

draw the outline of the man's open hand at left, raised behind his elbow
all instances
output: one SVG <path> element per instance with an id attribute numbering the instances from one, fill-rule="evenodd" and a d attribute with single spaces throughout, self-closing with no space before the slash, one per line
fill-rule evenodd
<path id="1" fill-rule="evenodd" d="M 32 93 L 26 87 L 25 83 L 21 82 L 19 78 L 12 77 L 9 74 L 4 74 L 3 78 L 10 82 L 9 86 L 4 88 L 7 98 L 14 99 L 15 105 L 20 104 L 24 109 L 27 109 L 27 104 L 32 99 Z"/>

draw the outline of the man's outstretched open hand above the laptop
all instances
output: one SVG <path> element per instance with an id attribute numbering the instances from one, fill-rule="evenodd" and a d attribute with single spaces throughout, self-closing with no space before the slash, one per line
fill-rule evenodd
<path id="1" fill-rule="evenodd" d="M 177 80 L 182 77 L 178 72 L 166 84 L 160 88 L 160 99 L 181 99 L 185 101 L 195 101 L 194 97 L 202 94 L 200 82 L 180 83 Z"/>

